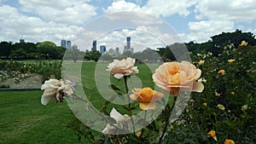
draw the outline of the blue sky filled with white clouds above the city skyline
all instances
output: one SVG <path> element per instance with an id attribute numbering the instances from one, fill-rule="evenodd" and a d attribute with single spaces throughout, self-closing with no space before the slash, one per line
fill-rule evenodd
<path id="1" fill-rule="evenodd" d="M 0 41 L 71 40 L 90 49 L 206 42 L 221 32 L 256 33 L 256 0 L 0 0 Z M 137 51 L 136 50 L 136 51 Z"/>

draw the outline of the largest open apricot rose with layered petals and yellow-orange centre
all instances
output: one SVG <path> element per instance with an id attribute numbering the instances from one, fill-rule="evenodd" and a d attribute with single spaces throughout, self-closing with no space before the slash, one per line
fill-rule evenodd
<path id="1" fill-rule="evenodd" d="M 189 61 L 166 62 L 159 66 L 152 78 L 154 83 L 171 95 L 178 95 L 180 90 L 202 92 L 204 85 L 197 82 L 201 70 Z"/>

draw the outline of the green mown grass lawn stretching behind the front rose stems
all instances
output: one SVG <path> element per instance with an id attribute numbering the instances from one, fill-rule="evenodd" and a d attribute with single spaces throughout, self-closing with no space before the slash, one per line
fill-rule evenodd
<path id="1" fill-rule="evenodd" d="M 96 86 L 95 78 L 106 73 L 108 63 L 99 62 L 98 65 L 99 75 L 95 76 L 96 62 L 83 62 L 81 78 L 84 92 L 91 104 L 101 110 L 105 99 L 98 92 L 99 88 Z M 150 66 L 153 69 L 157 67 L 157 65 Z M 140 88 L 147 86 L 154 88 L 152 82 L 154 71 L 151 71 L 146 65 L 138 65 L 138 69 L 140 73 L 137 74 L 137 78 L 140 80 L 137 82 L 141 86 Z M 109 78 L 109 72 L 107 74 Z M 103 81 L 104 79 L 102 79 L 102 83 Z M 110 82 L 120 89 L 125 88 L 123 80 L 110 78 Z M 107 88 L 109 89 L 109 87 Z M 40 103 L 42 94 L 43 91 L 0 91 L 0 143 L 79 143 L 77 135 L 73 130 L 67 128 L 67 124 L 73 118 L 73 113 L 67 106 L 67 102 L 56 104 L 54 101 L 50 101 L 44 107 Z M 137 102 L 132 102 L 132 106 L 136 105 Z M 113 103 L 109 104 L 107 112 L 110 112 L 112 107 L 117 108 L 119 112 L 126 113 L 119 104 Z M 138 107 L 137 112 L 140 112 Z"/>

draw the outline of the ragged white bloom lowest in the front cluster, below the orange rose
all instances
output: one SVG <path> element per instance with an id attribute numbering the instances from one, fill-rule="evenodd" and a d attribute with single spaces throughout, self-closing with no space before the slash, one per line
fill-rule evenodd
<path id="1" fill-rule="evenodd" d="M 118 130 L 124 130 L 124 124 L 131 119 L 127 114 L 122 115 L 117 112 L 115 108 L 112 108 L 110 117 L 116 121 L 116 124 L 107 124 L 106 128 L 102 130 L 102 133 L 104 134 L 116 134 L 118 133 Z"/>

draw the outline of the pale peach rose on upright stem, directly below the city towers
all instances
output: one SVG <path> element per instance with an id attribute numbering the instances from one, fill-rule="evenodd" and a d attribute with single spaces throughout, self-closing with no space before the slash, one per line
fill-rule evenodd
<path id="1" fill-rule="evenodd" d="M 137 66 L 134 66 L 134 64 L 135 59 L 131 59 L 131 57 L 123 60 L 113 60 L 113 62 L 108 65 L 107 71 L 110 71 L 114 78 L 120 79 L 124 76 L 138 73 Z"/>

